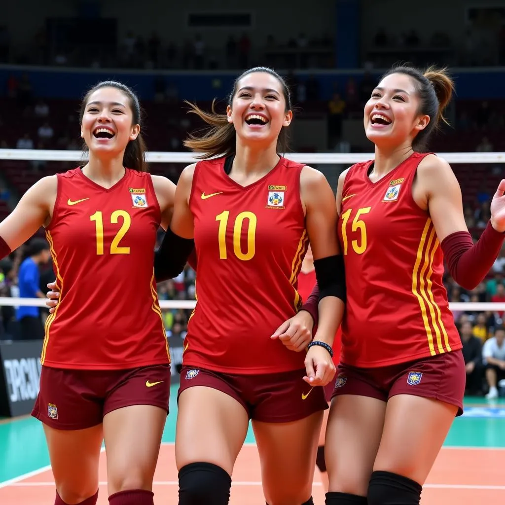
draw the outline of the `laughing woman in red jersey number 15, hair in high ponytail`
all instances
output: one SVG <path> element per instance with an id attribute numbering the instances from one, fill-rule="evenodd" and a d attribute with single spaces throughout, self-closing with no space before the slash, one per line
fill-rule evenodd
<path id="1" fill-rule="evenodd" d="M 327 505 L 418 504 L 462 414 L 465 364 L 443 258 L 467 289 L 484 278 L 503 241 L 505 180 L 474 245 L 450 166 L 421 154 L 452 90 L 442 70 L 388 71 L 364 110 L 375 157 L 339 177 L 347 300 L 326 431 Z"/>

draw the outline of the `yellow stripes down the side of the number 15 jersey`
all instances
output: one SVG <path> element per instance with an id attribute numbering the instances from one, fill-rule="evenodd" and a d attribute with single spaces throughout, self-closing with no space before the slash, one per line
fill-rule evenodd
<path id="1" fill-rule="evenodd" d="M 412 272 L 412 292 L 419 301 L 419 307 L 421 309 L 424 328 L 428 339 L 428 346 L 432 356 L 435 356 L 437 352 L 438 354 L 445 352 L 442 345 L 442 334 L 445 340 L 445 347 L 447 350 L 450 350 L 448 335 L 442 323 L 440 309 L 435 303 L 432 291 L 433 283 L 431 276 L 433 274 L 433 259 L 438 246 L 439 242 L 435 236 L 435 228 L 433 227 L 431 219 L 428 218 L 421 235 L 416 263 Z M 435 331 L 436 348 L 433 341 L 432 327 Z"/>

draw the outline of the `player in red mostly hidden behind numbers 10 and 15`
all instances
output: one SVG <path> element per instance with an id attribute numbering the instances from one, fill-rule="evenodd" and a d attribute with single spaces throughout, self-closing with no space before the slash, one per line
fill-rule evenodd
<path id="1" fill-rule="evenodd" d="M 312 257 L 312 249 L 311 246 L 309 245 L 309 247 L 307 248 L 307 254 L 305 255 L 304 261 L 301 263 L 300 273 L 298 274 L 298 293 L 300 294 L 302 301 L 304 302 L 307 301 L 315 283 L 316 283 L 316 271 L 314 269 L 314 258 Z M 283 332 L 288 329 L 289 328 L 285 323 L 284 326 L 281 326 L 274 333 L 274 337 L 280 336 L 281 338 L 287 338 L 288 334 Z M 338 366 L 338 362 L 340 359 L 340 340 L 341 340 L 341 332 L 340 328 L 338 328 L 337 333 L 335 334 L 335 339 L 333 340 L 333 363 L 335 364 L 335 367 Z M 324 386 L 324 393 L 326 395 L 328 404 L 330 403 L 334 387 L 335 387 L 334 380 L 331 380 L 330 382 L 328 382 L 326 386 Z M 321 480 L 323 481 L 323 485 L 326 491 L 328 491 L 328 472 L 326 471 L 324 445 L 326 438 L 326 426 L 328 423 L 328 414 L 329 411 L 325 410 L 323 417 L 323 424 L 321 426 L 321 433 L 319 435 L 319 443 L 316 457 L 316 466 L 319 468 L 319 472 L 321 473 Z"/>

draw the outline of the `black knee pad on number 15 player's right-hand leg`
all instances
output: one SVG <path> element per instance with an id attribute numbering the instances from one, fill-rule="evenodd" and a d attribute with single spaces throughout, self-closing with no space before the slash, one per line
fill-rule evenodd
<path id="1" fill-rule="evenodd" d="M 368 485 L 368 505 L 419 505 L 422 486 L 391 472 L 372 473 Z"/>

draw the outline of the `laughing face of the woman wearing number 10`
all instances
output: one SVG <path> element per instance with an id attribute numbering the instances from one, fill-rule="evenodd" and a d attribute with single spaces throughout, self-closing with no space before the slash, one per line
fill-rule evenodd
<path id="1" fill-rule="evenodd" d="M 237 82 L 226 114 L 245 143 L 277 142 L 281 129 L 289 126 L 293 117 L 286 111 L 282 83 L 267 72 L 251 72 Z"/>

